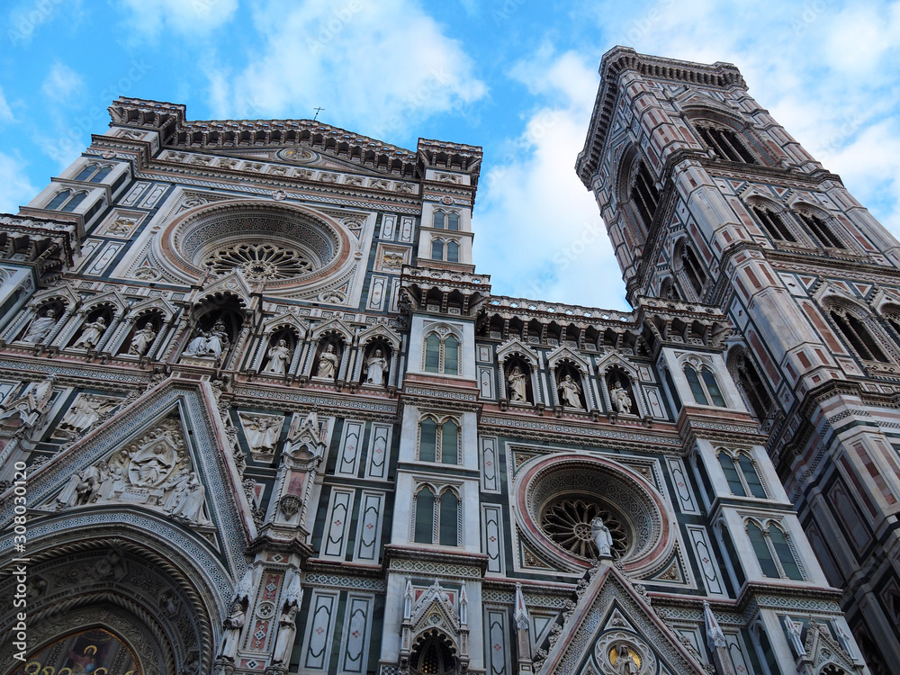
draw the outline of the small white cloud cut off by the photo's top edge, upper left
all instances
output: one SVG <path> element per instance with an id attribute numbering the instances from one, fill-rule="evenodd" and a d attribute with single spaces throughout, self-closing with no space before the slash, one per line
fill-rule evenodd
<path id="1" fill-rule="evenodd" d="M 130 24 L 151 35 L 162 30 L 209 33 L 231 20 L 238 0 L 125 0 Z"/>

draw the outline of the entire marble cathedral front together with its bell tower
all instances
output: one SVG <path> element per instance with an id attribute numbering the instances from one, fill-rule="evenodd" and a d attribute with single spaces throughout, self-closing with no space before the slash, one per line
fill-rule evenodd
<path id="1" fill-rule="evenodd" d="M 897 242 L 733 66 L 600 70 L 630 312 L 320 121 L 121 98 L 0 216 L 4 672 L 890 671 Z"/>

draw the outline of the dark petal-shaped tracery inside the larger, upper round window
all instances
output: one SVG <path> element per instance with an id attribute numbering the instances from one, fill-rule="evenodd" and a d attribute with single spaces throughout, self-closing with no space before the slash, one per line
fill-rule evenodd
<path id="1" fill-rule="evenodd" d="M 302 251 L 272 243 L 238 242 L 211 251 L 202 265 L 214 274 L 238 269 L 250 281 L 291 279 L 315 265 Z"/>

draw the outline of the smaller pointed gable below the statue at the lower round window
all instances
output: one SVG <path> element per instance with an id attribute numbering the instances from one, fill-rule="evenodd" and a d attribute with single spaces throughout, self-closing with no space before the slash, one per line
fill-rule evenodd
<path id="1" fill-rule="evenodd" d="M 614 625 L 623 623 L 623 626 Z M 547 654 L 542 675 L 614 673 L 614 661 L 631 653 L 643 663 L 688 675 L 704 675 L 703 665 L 680 643 L 678 635 L 632 588 L 615 567 L 605 563 L 594 574 L 565 626 L 564 639 Z M 620 650 L 626 649 L 622 656 Z M 643 669 L 642 669 L 643 671 Z M 655 666 L 648 672 L 655 672 Z"/>

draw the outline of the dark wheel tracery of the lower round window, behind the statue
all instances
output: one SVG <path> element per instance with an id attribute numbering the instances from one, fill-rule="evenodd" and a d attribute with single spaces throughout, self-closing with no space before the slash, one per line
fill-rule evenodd
<path id="1" fill-rule="evenodd" d="M 599 555 L 590 522 L 597 517 L 609 528 L 613 538 L 613 556 L 626 553 L 628 541 L 625 527 L 607 509 L 592 501 L 567 499 L 556 501 L 541 516 L 541 528 L 557 545 L 581 558 L 592 560 Z"/>

